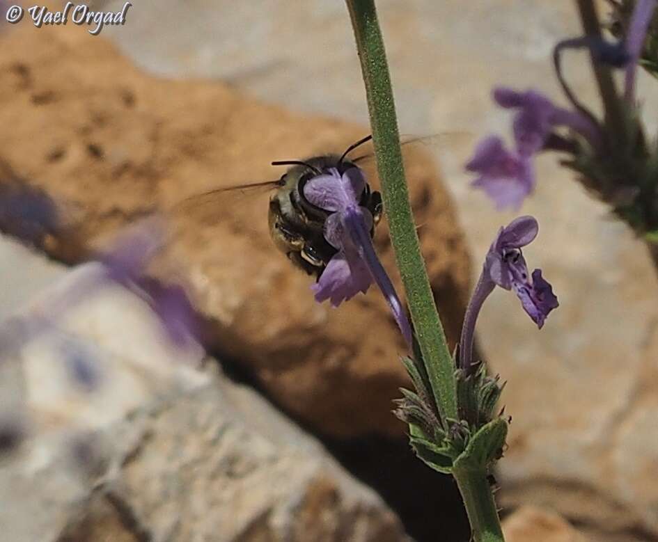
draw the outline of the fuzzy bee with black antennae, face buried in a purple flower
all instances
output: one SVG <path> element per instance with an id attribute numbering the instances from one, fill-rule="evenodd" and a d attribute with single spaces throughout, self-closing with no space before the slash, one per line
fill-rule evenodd
<path id="1" fill-rule="evenodd" d="M 316 207 L 304 196 L 304 186 L 318 175 L 329 173 L 336 168 L 342 175 L 370 154 L 348 159 L 348 155 L 359 146 L 367 143 L 372 136 L 367 136 L 350 145 L 343 154 L 325 154 L 305 160 L 281 160 L 272 162 L 272 166 L 290 166 L 276 181 L 242 184 L 215 189 L 187 198 L 185 202 L 198 200 L 207 196 L 216 196 L 229 191 L 240 191 L 257 187 L 273 189 L 269 198 L 268 223 L 269 235 L 274 246 L 281 250 L 292 264 L 306 271 L 309 275 L 320 278 L 329 260 L 337 250 L 324 239 L 324 222 L 331 212 Z M 382 196 L 370 188 L 366 182 L 359 205 L 373 216 L 370 237 L 375 234 L 375 227 L 382 218 Z"/>

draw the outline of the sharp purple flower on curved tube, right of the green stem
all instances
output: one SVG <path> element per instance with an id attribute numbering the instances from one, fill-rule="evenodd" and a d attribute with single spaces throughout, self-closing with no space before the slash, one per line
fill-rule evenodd
<path id="1" fill-rule="evenodd" d="M 505 228 L 501 228 L 489 247 L 480 280 L 471 297 L 462 326 L 460 340 L 462 369 L 468 370 L 471 367 L 476 319 L 485 299 L 493 292 L 494 287 L 513 290 L 528 316 L 540 329 L 549 312 L 558 306 L 558 298 L 549 282 L 542 277 L 542 271 L 535 269 L 530 276 L 521 252 L 524 246 L 537 237 L 538 231 L 539 225 L 535 218 L 520 216 Z"/>

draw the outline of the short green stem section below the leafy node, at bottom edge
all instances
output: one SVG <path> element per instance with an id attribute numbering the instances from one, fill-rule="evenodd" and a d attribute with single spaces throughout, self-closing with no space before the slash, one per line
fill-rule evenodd
<path id="1" fill-rule="evenodd" d="M 501 520 L 485 470 L 453 470 L 469 515 L 474 542 L 504 542 Z"/>

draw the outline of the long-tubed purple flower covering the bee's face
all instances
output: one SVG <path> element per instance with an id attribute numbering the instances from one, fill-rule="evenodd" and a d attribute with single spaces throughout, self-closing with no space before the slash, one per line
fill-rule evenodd
<path id="1" fill-rule="evenodd" d="M 347 168 L 342 174 L 329 168 L 304 186 L 304 196 L 311 204 L 331 212 L 324 223 L 324 238 L 338 250 L 312 287 L 315 301 L 329 299 L 337 307 L 359 292 L 365 294 L 374 279 L 411 347 L 409 321 L 370 238 L 373 216 L 359 206 L 365 189 L 366 180 L 357 167 Z"/>

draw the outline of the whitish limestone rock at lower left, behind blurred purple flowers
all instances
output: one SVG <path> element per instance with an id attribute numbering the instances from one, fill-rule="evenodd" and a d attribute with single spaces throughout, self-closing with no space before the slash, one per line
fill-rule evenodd
<path id="1" fill-rule="evenodd" d="M 17 268 L 41 265 L 14 254 Z M 2 329 L 52 315 L 93 268 L 56 278 Z M 70 371 L 63 346 L 74 345 L 93 385 Z M 166 342 L 146 303 L 110 285 L 3 349 L 2 397 L 23 392 L 0 401 L 0 420 L 25 423 L 12 449 L 0 425 L 0 541 L 407 540 L 320 443 L 214 360 L 198 369 L 201 356 Z"/>

